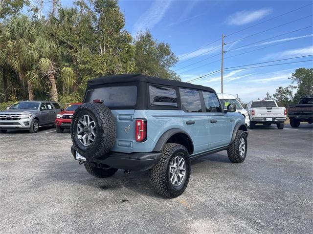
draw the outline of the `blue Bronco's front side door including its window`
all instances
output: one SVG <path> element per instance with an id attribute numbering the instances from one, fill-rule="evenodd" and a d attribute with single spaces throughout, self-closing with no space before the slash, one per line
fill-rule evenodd
<path id="1" fill-rule="evenodd" d="M 224 113 L 215 93 L 202 94 L 209 122 L 209 149 L 226 146 L 230 141 L 230 129 L 234 119 Z"/>

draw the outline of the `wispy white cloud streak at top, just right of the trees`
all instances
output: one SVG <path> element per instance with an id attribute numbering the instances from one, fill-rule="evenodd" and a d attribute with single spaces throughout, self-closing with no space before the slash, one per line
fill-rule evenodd
<path id="1" fill-rule="evenodd" d="M 140 31 L 153 28 L 159 21 L 163 19 L 166 11 L 171 5 L 171 0 L 155 0 L 150 8 L 142 14 L 135 22 L 133 27 L 133 35 Z"/>

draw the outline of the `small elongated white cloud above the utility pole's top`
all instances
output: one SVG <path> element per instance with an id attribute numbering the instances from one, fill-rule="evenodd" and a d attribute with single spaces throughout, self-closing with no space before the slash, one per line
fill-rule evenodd
<path id="1" fill-rule="evenodd" d="M 243 25 L 261 20 L 272 12 L 272 9 L 259 9 L 256 11 L 239 11 L 227 17 L 226 22 L 230 25 Z"/>

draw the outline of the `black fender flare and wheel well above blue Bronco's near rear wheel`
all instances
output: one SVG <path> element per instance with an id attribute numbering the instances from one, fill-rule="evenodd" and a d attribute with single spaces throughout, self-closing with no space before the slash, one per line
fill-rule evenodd
<path id="1" fill-rule="evenodd" d="M 190 135 L 182 129 L 172 128 L 163 133 L 163 135 L 156 142 L 156 146 L 153 151 L 161 151 L 166 143 L 178 143 L 186 147 L 191 155 L 194 151 L 194 144 Z"/>

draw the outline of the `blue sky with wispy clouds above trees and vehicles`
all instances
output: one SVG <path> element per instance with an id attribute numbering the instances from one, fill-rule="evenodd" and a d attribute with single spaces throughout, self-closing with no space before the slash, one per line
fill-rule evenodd
<path id="1" fill-rule="evenodd" d="M 62 2 L 67 5 L 71 1 L 63 0 Z M 221 57 L 218 55 L 221 48 L 216 48 L 221 45 L 221 41 L 212 43 L 200 50 L 195 50 L 220 39 L 222 34 L 226 35 L 224 39 L 226 43 L 224 47 L 226 51 L 224 54 L 225 68 L 313 54 L 312 27 L 288 33 L 313 24 L 313 18 L 310 16 L 313 13 L 312 5 L 229 35 L 310 3 L 312 1 L 301 0 L 119 1 L 120 8 L 126 18 L 126 30 L 131 32 L 133 36 L 140 31 L 150 30 L 157 40 L 171 45 L 172 50 L 180 57 L 179 63 L 173 69 L 177 71 L 182 81 L 189 81 L 221 68 L 221 61 L 219 61 Z M 298 20 L 300 18 L 304 19 Z M 288 24 L 249 37 L 249 35 L 284 23 Z M 285 35 L 276 37 L 280 34 Z M 244 37 L 247 38 L 237 41 Z M 236 42 L 231 43 L 233 41 Z M 262 42 L 256 43 L 258 41 Z M 236 49 L 250 43 L 253 44 Z M 261 49 L 263 47 L 268 48 Z M 251 50 L 256 51 L 227 59 L 227 57 Z M 311 59 L 313 59 L 313 56 L 276 63 Z M 201 60 L 204 61 L 200 62 Z M 183 68 L 184 66 L 188 67 Z M 288 77 L 299 67 L 312 68 L 313 63 L 285 64 L 246 70 L 225 70 L 224 93 L 238 94 L 245 102 L 263 98 L 267 91 L 273 94 L 278 86 L 290 85 Z M 221 90 L 220 73 L 193 83 L 213 87 L 217 92 Z"/>

